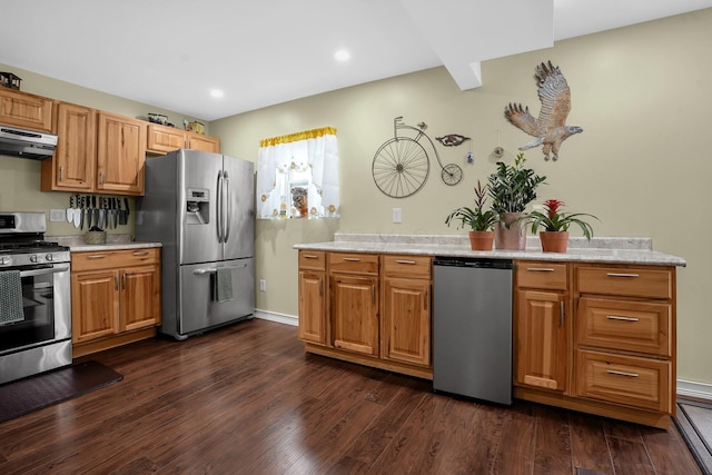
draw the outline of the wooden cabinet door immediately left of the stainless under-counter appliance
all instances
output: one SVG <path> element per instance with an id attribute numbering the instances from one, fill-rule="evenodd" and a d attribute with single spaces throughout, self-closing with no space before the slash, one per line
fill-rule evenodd
<path id="1" fill-rule="evenodd" d="M 385 280 L 382 329 L 384 359 L 431 365 L 429 280 Z"/>

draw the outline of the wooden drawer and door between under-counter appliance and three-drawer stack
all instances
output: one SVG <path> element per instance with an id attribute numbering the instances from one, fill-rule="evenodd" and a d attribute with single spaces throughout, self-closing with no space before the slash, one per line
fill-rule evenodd
<path id="1" fill-rule="evenodd" d="M 568 265 L 515 263 L 514 384 L 566 393 L 571 367 Z"/>

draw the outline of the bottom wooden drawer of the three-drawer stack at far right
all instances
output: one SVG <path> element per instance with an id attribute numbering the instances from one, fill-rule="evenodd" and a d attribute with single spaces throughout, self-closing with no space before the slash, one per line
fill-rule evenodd
<path id="1" fill-rule="evenodd" d="M 599 352 L 576 352 L 578 396 L 670 412 L 670 362 Z"/>

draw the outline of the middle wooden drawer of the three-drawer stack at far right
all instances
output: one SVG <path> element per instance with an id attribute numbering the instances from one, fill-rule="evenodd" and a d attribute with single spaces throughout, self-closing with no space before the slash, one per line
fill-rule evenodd
<path id="1" fill-rule="evenodd" d="M 671 355 L 672 306 L 662 303 L 581 298 L 578 345 Z"/>

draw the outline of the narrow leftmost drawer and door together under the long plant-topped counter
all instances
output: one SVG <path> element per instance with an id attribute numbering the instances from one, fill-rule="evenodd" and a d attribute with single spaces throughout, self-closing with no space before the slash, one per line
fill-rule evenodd
<path id="1" fill-rule="evenodd" d="M 299 250 L 299 338 L 326 345 L 326 253 Z"/>

